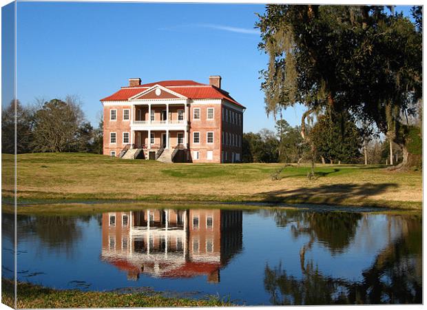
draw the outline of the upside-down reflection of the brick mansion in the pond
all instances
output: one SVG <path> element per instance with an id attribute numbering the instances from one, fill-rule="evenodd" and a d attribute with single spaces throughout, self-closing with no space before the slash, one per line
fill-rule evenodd
<path id="1" fill-rule="evenodd" d="M 156 277 L 206 275 L 220 281 L 220 268 L 242 249 L 242 211 L 145 209 L 103 214 L 101 258 L 127 271 Z"/>

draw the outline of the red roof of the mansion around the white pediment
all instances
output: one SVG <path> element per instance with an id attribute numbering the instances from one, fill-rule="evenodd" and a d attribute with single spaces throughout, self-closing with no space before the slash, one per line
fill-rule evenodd
<path id="1" fill-rule="evenodd" d="M 158 81 L 134 87 L 121 87 L 121 90 L 118 90 L 118 92 L 115 92 L 111 96 L 101 99 L 101 101 L 127 101 L 129 98 L 139 94 L 140 92 L 144 92 L 154 85 L 161 85 L 166 87 L 168 90 L 181 94 L 189 99 L 225 99 L 243 107 L 243 105 L 234 100 L 228 92 L 225 92 L 225 90 L 220 90 L 218 87 L 190 80 Z"/>

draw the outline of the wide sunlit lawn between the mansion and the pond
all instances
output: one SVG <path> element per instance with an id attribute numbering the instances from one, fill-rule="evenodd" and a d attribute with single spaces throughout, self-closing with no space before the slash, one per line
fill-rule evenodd
<path id="1" fill-rule="evenodd" d="M 12 197 L 13 156 L 3 154 L 3 197 Z M 18 199 L 158 200 L 314 203 L 420 209 L 421 172 L 390 172 L 383 166 L 280 164 L 165 164 L 94 154 L 17 156 Z"/>

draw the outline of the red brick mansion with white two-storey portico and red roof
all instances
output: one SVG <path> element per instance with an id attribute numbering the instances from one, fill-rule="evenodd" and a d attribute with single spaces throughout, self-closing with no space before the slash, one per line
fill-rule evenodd
<path id="1" fill-rule="evenodd" d="M 101 103 L 105 155 L 167 163 L 242 161 L 245 107 L 222 90 L 220 76 L 209 76 L 209 84 L 129 79 Z"/>

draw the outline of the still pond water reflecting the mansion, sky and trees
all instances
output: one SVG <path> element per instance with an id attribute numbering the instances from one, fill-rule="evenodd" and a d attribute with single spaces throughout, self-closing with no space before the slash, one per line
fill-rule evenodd
<path id="1" fill-rule="evenodd" d="M 421 303 L 421 231 L 421 216 L 302 209 L 18 216 L 17 275 L 246 305 Z M 10 249 L 3 231 L 3 257 Z"/>

